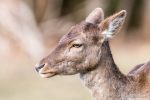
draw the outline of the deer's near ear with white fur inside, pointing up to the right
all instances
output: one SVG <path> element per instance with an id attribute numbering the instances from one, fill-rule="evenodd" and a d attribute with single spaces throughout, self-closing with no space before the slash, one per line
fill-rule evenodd
<path id="1" fill-rule="evenodd" d="M 125 18 L 126 18 L 125 10 L 122 10 L 106 18 L 100 24 L 100 27 L 102 28 L 102 35 L 104 35 L 106 38 L 114 36 L 116 33 L 119 32 L 120 28 L 124 23 Z"/>

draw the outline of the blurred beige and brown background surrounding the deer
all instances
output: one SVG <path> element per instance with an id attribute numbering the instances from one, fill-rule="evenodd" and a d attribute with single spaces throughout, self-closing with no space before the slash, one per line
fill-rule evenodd
<path id="1" fill-rule="evenodd" d="M 0 0 L 0 100 L 92 100 L 78 75 L 43 79 L 34 65 L 96 7 L 128 12 L 110 43 L 123 73 L 150 60 L 150 0 Z"/>

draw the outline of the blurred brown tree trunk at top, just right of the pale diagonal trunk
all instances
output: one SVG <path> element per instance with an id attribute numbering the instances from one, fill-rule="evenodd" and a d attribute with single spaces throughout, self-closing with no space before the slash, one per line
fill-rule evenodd
<path id="1" fill-rule="evenodd" d="M 57 19 L 60 15 L 62 0 L 34 0 L 34 13 L 37 22 Z"/>

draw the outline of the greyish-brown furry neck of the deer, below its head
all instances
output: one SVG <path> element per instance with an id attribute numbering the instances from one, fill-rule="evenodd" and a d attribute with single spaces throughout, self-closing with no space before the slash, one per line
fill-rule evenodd
<path id="1" fill-rule="evenodd" d="M 126 77 L 115 65 L 108 41 L 103 43 L 101 53 L 99 64 L 94 70 L 81 73 L 81 80 L 95 97 L 118 95 L 119 86 L 125 85 Z"/>

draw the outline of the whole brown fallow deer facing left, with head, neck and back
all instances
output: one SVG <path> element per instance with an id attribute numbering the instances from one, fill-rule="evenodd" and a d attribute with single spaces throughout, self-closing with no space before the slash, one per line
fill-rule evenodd
<path id="1" fill-rule="evenodd" d="M 96 100 L 149 100 L 150 62 L 124 75 L 111 54 L 108 41 L 119 32 L 125 18 L 122 10 L 104 19 L 103 10 L 96 8 L 60 39 L 36 70 L 47 78 L 79 73 Z"/>

